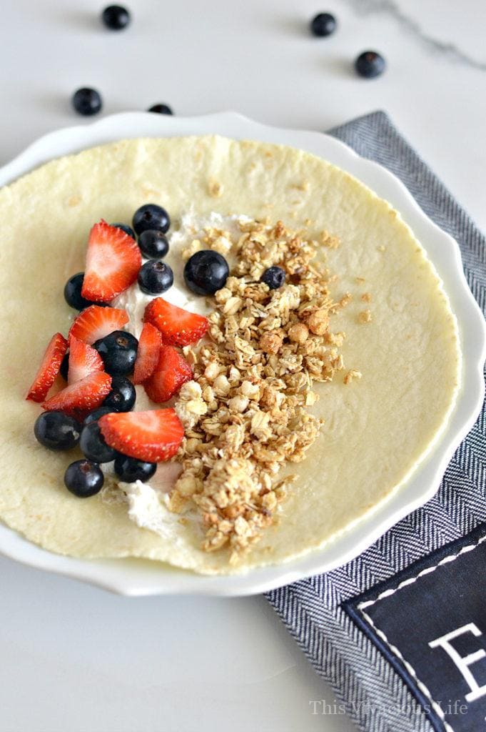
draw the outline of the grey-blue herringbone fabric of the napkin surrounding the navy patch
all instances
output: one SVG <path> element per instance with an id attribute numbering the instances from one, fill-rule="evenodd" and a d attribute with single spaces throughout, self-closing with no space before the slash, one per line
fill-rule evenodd
<path id="1" fill-rule="evenodd" d="M 395 173 L 425 213 L 457 240 L 471 291 L 485 313 L 485 237 L 387 115 L 374 112 L 330 133 Z M 486 520 L 485 415 L 483 408 L 441 488 L 424 507 L 344 567 L 267 595 L 316 671 L 366 732 L 432 732 L 432 726 L 398 674 L 339 605 Z"/>

